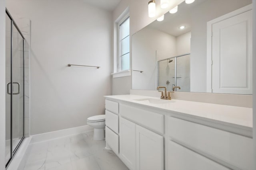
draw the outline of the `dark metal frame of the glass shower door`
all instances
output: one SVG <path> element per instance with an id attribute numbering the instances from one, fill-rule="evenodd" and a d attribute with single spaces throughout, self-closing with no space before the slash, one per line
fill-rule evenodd
<path id="1" fill-rule="evenodd" d="M 24 136 L 24 134 L 25 134 L 25 125 L 24 125 L 24 123 L 25 123 L 25 119 L 24 119 L 24 115 L 25 115 L 25 86 L 24 86 L 24 84 L 25 84 L 25 69 L 24 69 L 24 63 L 25 63 L 25 38 L 24 38 L 24 36 L 23 36 L 23 34 L 22 34 L 22 32 L 20 31 L 20 29 L 19 29 L 19 27 L 17 26 L 17 24 L 15 23 L 15 21 L 14 21 L 14 19 L 12 18 L 12 16 L 10 15 L 10 12 L 7 10 L 7 8 L 6 8 L 6 14 L 7 14 L 7 16 L 10 18 L 10 20 L 11 20 L 11 109 L 10 109 L 10 111 L 11 111 L 11 114 L 10 114 L 10 118 L 11 118 L 11 123 L 10 123 L 10 141 L 11 141 L 11 145 L 10 145 L 10 159 L 8 160 L 8 162 L 6 163 L 6 168 L 8 168 L 8 166 L 10 165 L 10 162 L 12 161 L 12 159 L 13 159 L 13 157 L 15 156 L 15 154 L 17 153 L 17 150 L 19 149 L 19 147 L 20 147 L 20 145 L 22 144 L 22 142 L 23 142 L 23 140 L 24 140 L 24 138 L 25 138 L 25 136 Z M 12 149 L 12 95 L 14 95 L 14 93 L 13 93 L 13 89 L 12 89 L 12 85 L 13 85 L 13 82 L 12 82 L 12 43 L 13 43 L 13 26 L 15 26 L 16 27 L 16 29 L 18 30 L 18 32 L 20 33 L 20 36 L 22 37 L 22 39 L 23 39 L 23 136 L 22 136 L 22 138 L 20 139 L 20 141 L 19 141 L 19 143 L 18 143 L 18 145 L 15 147 L 15 149 Z"/>

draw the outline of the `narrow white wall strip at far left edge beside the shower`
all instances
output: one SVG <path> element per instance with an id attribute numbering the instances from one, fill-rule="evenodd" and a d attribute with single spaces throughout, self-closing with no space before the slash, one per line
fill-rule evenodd
<path id="1" fill-rule="evenodd" d="M 5 170 L 5 6 L 0 0 L 0 170 Z"/>

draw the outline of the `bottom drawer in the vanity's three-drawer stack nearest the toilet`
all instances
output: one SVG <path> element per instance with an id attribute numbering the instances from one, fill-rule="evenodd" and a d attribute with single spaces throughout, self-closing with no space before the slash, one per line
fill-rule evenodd
<path id="1" fill-rule="evenodd" d="M 118 154 L 119 153 L 119 136 L 116 135 L 111 129 L 106 126 L 106 143 L 111 149 Z"/>

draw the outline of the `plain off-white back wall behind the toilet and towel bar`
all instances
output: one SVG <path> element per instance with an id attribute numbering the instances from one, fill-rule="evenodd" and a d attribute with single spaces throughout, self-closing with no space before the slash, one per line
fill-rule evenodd
<path id="1" fill-rule="evenodd" d="M 31 20 L 30 134 L 86 125 L 111 94 L 111 12 L 80 0 L 9 0 Z M 100 69 L 67 64 L 101 66 Z"/>

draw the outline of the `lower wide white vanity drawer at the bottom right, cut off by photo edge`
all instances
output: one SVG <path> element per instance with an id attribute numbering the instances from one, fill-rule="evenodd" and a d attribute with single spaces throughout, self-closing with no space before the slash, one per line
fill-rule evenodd
<path id="1" fill-rule="evenodd" d="M 168 141 L 168 170 L 230 170 L 177 143 Z"/>

